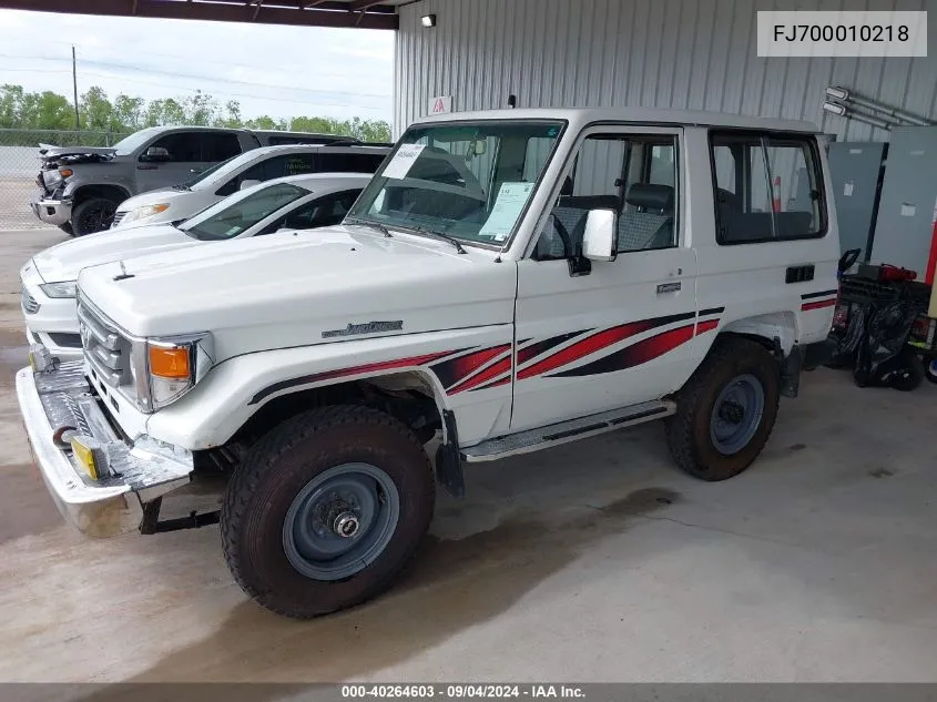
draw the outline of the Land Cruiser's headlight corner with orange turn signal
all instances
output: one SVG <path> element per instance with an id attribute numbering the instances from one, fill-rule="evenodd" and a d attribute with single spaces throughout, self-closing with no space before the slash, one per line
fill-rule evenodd
<path id="1" fill-rule="evenodd" d="M 210 334 L 134 342 L 130 373 L 136 386 L 136 403 L 153 411 L 191 390 L 212 367 Z"/>

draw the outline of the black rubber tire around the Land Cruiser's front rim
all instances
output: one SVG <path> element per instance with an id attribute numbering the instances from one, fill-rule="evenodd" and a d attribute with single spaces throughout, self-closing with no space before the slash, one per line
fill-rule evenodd
<path id="1" fill-rule="evenodd" d="M 399 498 L 393 536 L 358 572 L 309 578 L 286 553 L 291 506 L 317 476 L 358 462 L 393 480 Z M 221 510 L 224 556 L 237 584 L 263 607 L 296 619 L 319 617 L 387 590 L 429 528 L 435 501 L 429 457 L 404 424 L 367 407 L 316 408 L 266 434 L 234 471 Z"/>

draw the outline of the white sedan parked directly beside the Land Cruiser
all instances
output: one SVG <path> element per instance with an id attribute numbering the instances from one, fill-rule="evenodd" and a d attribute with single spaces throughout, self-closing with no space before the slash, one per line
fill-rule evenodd
<path id="1" fill-rule="evenodd" d="M 369 179 L 367 173 L 278 177 L 238 191 L 182 224 L 101 232 L 47 248 L 20 272 L 27 337 L 62 360 L 80 359 L 74 295 L 75 279 L 82 268 L 205 242 L 338 224 Z"/>

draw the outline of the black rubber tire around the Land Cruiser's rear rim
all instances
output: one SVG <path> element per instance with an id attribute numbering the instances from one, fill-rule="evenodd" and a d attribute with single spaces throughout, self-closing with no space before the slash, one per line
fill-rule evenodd
<path id="1" fill-rule="evenodd" d="M 711 431 L 714 405 L 734 379 L 753 377 L 761 384 L 763 409 L 754 433 L 733 454 L 716 448 Z M 761 344 L 733 336 L 716 339 L 709 356 L 678 396 L 676 414 L 668 417 L 671 455 L 691 476 L 707 481 L 727 480 L 745 470 L 767 442 L 781 401 L 777 362 Z"/>

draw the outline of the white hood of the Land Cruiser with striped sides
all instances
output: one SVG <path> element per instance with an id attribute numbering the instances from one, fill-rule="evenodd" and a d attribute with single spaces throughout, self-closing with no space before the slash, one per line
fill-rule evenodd
<path id="1" fill-rule="evenodd" d="M 517 266 L 495 252 L 334 226 L 190 247 L 85 268 L 81 294 L 141 336 L 211 332 L 217 360 L 251 350 L 510 324 Z M 119 278 L 119 279 L 114 279 Z M 339 333 L 336 333 L 339 332 Z"/>

